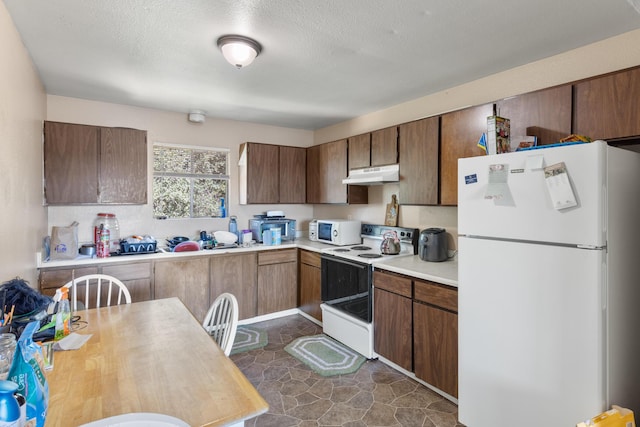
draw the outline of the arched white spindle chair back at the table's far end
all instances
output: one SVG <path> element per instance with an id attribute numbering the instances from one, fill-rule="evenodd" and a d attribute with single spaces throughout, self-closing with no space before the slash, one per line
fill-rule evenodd
<path id="1" fill-rule="evenodd" d="M 73 311 L 78 310 L 78 300 L 84 305 L 81 309 L 131 304 L 131 294 L 125 284 L 108 274 L 87 274 L 64 286 L 70 288 L 69 300 Z"/>

